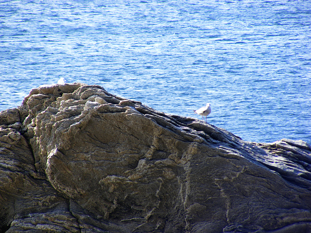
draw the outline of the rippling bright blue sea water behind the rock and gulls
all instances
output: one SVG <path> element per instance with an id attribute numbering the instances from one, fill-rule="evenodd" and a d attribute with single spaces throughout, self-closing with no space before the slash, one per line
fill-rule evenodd
<path id="1" fill-rule="evenodd" d="M 0 0 L 0 110 L 68 82 L 311 143 L 310 0 Z"/>

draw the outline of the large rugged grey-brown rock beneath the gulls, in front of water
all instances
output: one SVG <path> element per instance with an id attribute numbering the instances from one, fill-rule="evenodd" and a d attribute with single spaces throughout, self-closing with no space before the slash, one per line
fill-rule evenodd
<path id="1" fill-rule="evenodd" d="M 80 83 L 0 113 L 0 232 L 309 233 L 311 147 Z"/>

